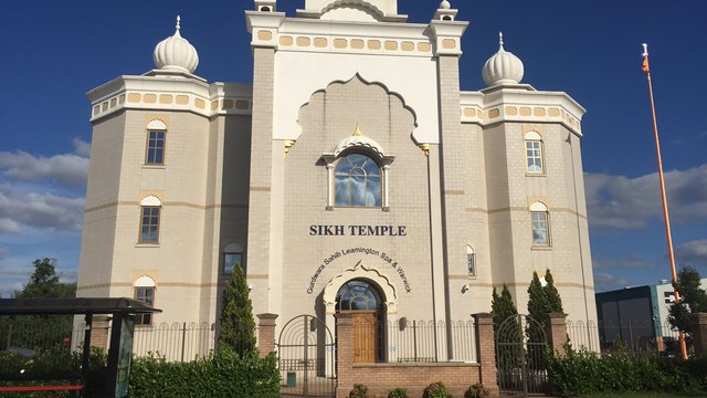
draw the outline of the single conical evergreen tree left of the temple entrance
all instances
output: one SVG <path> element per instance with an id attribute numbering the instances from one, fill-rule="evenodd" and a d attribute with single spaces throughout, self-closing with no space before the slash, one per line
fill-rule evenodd
<path id="1" fill-rule="evenodd" d="M 234 348 L 240 354 L 255 349 L 253 304 L 241 266 L 234 268 L 233 277 L 223 291 L 219 343 Z"/>

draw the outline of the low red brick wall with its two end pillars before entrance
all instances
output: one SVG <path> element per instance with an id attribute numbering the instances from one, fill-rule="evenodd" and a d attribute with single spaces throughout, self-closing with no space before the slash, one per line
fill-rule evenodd
<path id="1" fill-rule="evenodd" d="M 444 383 L 455 397 L 479 381 L 497 396 L 493 318 L 489 314 L 474 317 L 479 364 L 354 364 L 354 321 L 350 314 L 337 315 L 336 397 L 347 398 L 355 384 L 366 385 L 372 397 L 387 397 L 399 387 L 408 389 L 412 397 L 421 397 L 424 388 L 435 381 Z"/>

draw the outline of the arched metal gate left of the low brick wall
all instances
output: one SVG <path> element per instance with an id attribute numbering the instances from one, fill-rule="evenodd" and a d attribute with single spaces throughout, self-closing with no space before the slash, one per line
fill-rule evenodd
<path id="1" fill-rule="evenodd" d="M 277 339 L 282 397 L 335 397 L 336 344 L 319 318 L 299 315 Z"/>

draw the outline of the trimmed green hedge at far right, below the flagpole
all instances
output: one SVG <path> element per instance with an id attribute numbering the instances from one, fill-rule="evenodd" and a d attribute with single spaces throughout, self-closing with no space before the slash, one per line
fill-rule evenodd
<path id="1" fill-rule="evenodd" d="M 682 362 L 622 353 L 600 357 L 587 350 L 570 350 L 564 357 L 548 355 L 548 375 L 555 394 L 563 397 L 594 392 L 695 391 L 707 389 L 707 358 Z"/>

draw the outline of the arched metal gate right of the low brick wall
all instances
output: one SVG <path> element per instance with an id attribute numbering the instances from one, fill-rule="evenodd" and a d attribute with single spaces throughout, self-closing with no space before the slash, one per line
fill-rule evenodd
<path id="1" fill-rule="evenodd" d="M 545 395 L 549 380 L 544 325 L 527 315 L 514 315 L 498 325 L 496 366 L 498 388 L 508 395 Z"/>

